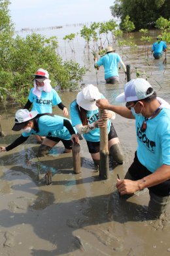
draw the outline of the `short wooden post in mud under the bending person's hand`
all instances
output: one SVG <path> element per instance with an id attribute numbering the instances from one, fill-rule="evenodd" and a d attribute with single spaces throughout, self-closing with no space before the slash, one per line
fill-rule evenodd
<path id="1" fill-rule="evenodd" d="M 73 143 L 72 154 L 73 154 L 73 171 L 76 174 L 81 173 L 80 144 L 76 142 Z"/>

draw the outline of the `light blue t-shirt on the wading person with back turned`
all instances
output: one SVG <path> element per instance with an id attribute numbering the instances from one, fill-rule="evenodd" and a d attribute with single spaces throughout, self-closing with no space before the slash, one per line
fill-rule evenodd
<path id="1" fill-rule="evenodd" d="M 118 75 L 118 63 L 122 60 L 117 53 L 107 53 L 101 57 L 95 64 L 103 65 L 105 68 L 105 79 Z"/>

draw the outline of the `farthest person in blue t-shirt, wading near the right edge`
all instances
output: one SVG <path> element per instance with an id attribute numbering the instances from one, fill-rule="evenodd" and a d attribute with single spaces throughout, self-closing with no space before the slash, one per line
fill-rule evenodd
<path id="1" fill-rule="evenodd" d="M 165 41 L 162 41 L 161 35 L 158 35 L 156 39 L 157 41 L 152 45 L 152 53 L 154 58 L 159 59 L 162 56 L 162 52 L 167 51 L 167 45 Z"/>

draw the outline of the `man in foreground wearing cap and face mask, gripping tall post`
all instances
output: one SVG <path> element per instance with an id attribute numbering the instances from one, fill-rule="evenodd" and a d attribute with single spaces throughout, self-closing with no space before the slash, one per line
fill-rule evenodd
<path id="1" fill-rule="evenodd" d="M 148 217 L 157 219 L 170 202 L 170 106 L 143 78 L 126 83 L 116 101 L 126 106 L 113 106 L 105 99 L 97 100 L 97 106 L 135 119 L 138 144 L 133 163 L 116 187 L 120 195 L 148 188 Z"/>

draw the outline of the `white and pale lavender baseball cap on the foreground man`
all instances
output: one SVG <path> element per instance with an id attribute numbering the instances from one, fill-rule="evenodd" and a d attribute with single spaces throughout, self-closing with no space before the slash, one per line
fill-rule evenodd
<path id="1" fill-rule="evenodd" d="M 143 78 L 131 79 L 124 86 L 124 93 L 121 93 L 116 97 L 117 102 L 129 102 L 135 100 L 142 100 L 154 93 L 152 88 L 152 93 L 146 94 L 148 88 L 152 88 L 150 83 Z"/>

